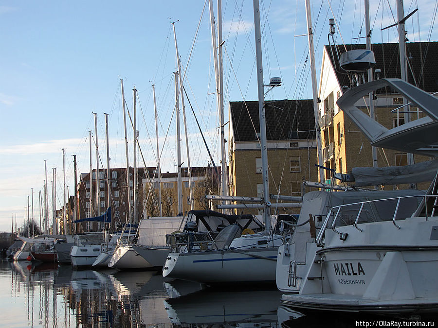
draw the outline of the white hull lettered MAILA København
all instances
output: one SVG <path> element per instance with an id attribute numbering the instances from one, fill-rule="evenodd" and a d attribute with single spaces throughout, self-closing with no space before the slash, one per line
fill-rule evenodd
<path id="1" fill-rule="evenodd" d="M 293 307 L 336 311 L 427 312 L 438 306 L 438 218 L 374 222 L 326 230 Z"/>

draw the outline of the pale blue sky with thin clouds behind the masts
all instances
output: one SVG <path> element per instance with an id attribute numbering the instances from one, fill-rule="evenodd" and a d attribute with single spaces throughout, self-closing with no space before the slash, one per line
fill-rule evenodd
<path id="1" fill-rule="evenodd" d="M 217 6 L 216 1 L 214 6 Z M 328 19 L 336 19 L 336 42 L 364 43 L 363 0 L 311 1 L 317 75 L 327 44 Z M 437 41 L 436 1 L 404 2 L 407 14 L 419 11 L 406 24 L 410 41 Z M 281 87 L 268 99 L 311 99 L 306 16 L 302 0 L 260 0 L 265 83 L 280 76 Z M 372 42 L 397 42 L 395 0 L 370 0 Z M 214 9 L 215 16 L 217 8 Z M 254 16 L 252 1 L 223 0 L 224 104 L 257 100 Z M 125 167 L 120 80 L 126 104 L 133 111 L 132 89 L 138 90 L 137 130 L 144 158 L 138 166 L 156 166 L 152 84 L 159 117 L 162 171 L 175 172 L 175 30 L 184 87 L 200 121 L 214 160 L 219 165 L 218 111 L 208 2 L 189 1 L 33 1 L 0 0 L 0 231 L 10 231 L 29 216 L 39 222 L 39 192 L 43 195 L 47 163 L 51 218 L 53 169 L 56 168 L 56 207 L 63 202 L 65 181 L 73 194 L 73 156 L 79 173 L 106 167 L 105 115 L 109 114 L 110 167 Z M 210 159 L 185 99 L 188 148 L 192 166 Z M 94 115 L 97 113 L 97 132 Z M 182 120 L 182 116 L 181 116 Z M 182 121 L 183 131 L 183 121 Z M 228 124 L 226 125 L 228 128 Z M 128 125 L 129 163 L 133 166 L 133 129 Z M 226 132 L 228 135 L 228 132 Z M 183 166 L 185 155 L 183 139 Z M 65 149 L 63 159 L 62 149 Z M 33 194 L 32 194 L 33 190 Z M 33 213 L 32 214 L 32 196 Z M 29 205 L 29 206 L 28 206 Z"/>

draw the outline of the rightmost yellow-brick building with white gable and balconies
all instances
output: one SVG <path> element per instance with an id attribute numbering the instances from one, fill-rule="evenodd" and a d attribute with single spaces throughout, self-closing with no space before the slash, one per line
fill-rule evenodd
<path id="1" fill-rule="evenodd" d="M 342 52 L 344 47 L 339 47 Z M 346 45 L 347 51 L 365 49 L 365 45 Z M 399 44 L 385 43 L 373 44 L 376 65 L 374 70 L 381 69 L 379 76 L 374 73 L 374 78 L 400 78 Z M 438 65 L 435 54 L 438 51 L 438 42 L 409 42 L 406 44 L 408 56 L 408 82 L 420 87 L 429 93 L 438 91 L 437 73 Z M 344 91 L 353 87 L 351 75 L 342 73 L 335 49 L 324 47 L 321 81 L 319 85 L 319 127 L 321 130 L 322 155 L 324 166 L 336 170 L 337 173 L 350 172 L 353 167 L 372 167 L 371 146 L 365 135 L 348 119 L 336 105 L 336 101 Z M 365 81 L 367 75 L 365 74 Z M 377 90 L 374 99 L 376 120 L 388 129 L 404 124 L 403 114 L 399 115 L 392 110 L 401 107 L 403 99 L 400 94 L 383 88 Z M 365 113 L 368 113 L 369 99 L 366 97 L 362 104 L 356 104 Z M 401 111 L 405 109 L 402 107 Z M 421 118 L 423 113 L 418 108 L 410 106 L 411 120 Z M 414 155 L 415 162 L 428 160 L 429 157 Z M 378 167 L 402 166 L 407 164 L 407 154 L 388 150 L 377 149 Z M 330 179 L 326 171 L 326 180 Z M 418 188 L 427 188 L 427 183 L 420 184 Z M 388 186 L 389 187 L 389 186 Z M 399 188 L 407 188 L 407 185 Z M 392 188 L 392 186 L 391 186 Z"/>

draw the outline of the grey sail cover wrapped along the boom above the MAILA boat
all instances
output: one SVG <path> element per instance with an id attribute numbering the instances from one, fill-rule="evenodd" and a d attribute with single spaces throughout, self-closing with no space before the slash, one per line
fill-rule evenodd
<path id="1" fill-rule="evenodd" d="M 336 174 L 342 182 L 354 182 L 356 187 L 396 185 L 432 181 L 437 174 L 438 160 L 406 166 L 384 168 L 353 168 L 351 173 Z"/>

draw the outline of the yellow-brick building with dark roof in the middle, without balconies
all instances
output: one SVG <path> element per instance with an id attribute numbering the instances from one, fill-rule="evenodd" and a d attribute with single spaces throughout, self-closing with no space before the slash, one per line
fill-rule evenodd
<path id="1" fill-rule="evenodd" d="M 230 102 L 230 195 L 262 196 L 258 102 Z M 265 102 L 270 193 L 302 195 L 317 180 L 312 100 Z M 250 211 L 248 211 L 250 212 Z"/>

